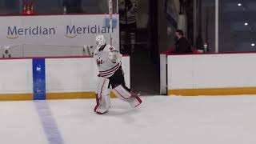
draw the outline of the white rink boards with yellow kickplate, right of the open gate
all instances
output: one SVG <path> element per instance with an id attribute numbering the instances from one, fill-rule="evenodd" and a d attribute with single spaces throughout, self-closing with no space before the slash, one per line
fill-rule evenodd
<path id="1" fill-rule="evenodd" d="M 254 53 L 161 54 L 161 93 L 256 94 L 255 61 Z"/>

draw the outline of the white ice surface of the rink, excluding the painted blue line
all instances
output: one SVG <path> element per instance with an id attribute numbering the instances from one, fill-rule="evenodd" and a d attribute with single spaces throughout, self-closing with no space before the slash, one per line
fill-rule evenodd
<path id="1" fill-rule="evenodd" d="M 65 144 L 255 144 L 256 96 L 142 97 L 130 108 L 113 99 L 47 101 Z M 1 144 L 48 144 L 34 102 L 0 102 Z"/>

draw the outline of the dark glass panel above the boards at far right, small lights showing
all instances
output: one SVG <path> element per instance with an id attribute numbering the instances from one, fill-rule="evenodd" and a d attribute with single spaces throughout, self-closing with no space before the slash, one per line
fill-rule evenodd
<path id="1" fill-rule="evenodd" d="M 255 51 L 256 2 L 222 0 L 219 4 L 220 51 Z"/>

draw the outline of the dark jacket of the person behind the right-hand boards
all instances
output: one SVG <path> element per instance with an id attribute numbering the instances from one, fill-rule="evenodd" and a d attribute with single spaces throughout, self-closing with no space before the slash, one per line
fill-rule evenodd
<path id="1" fill-rule="evenodd" d="M 176 48 L 174 50 L 174 53 L 177 53 L 177 54 L 192 53 L 190 42 L 188 42 L 184 37 L 179 38 L 178 41 L 176 42 Z"/>

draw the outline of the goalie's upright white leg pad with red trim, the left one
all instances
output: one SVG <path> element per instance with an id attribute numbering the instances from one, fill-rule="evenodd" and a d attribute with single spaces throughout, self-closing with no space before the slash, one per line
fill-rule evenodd
<path id="1" fill-rule="evenodd" d="M 108 78 L 98 77 L 98 88 L 96 94 L 96 106 L 94 112 L 104 114 L 110 109 L 110 90 L 108 88 L 110 80 Z"/>

